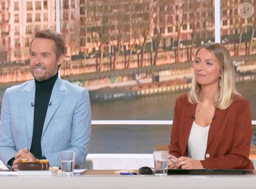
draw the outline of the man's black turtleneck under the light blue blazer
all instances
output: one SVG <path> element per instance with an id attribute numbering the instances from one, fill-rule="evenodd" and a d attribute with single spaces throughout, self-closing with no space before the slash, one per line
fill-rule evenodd
<path id="1" fill-rule="evenodd" d="M 42 131 L 47 109 L 51 104 L 49 100 L 51 98 L 53 85 L 55 84 L 57 78 L 58 72 L 53 77 L 45 81 L 40 82 L 35 79 L 36 93 L 34 101 L 34 130 L 30 152 L 38 159 L 41 159 L 42 156 Z"/>

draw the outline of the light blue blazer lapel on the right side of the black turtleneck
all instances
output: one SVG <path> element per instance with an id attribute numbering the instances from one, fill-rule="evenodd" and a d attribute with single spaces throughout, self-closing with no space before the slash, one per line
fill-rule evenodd
<path id="1" fill-rule="evenodd" d="M 62 85 L 61 79 L 58 77 L 53 86 L 53 91 L 52 91 L 51 98 L 49 101 L 49 103 L 51 103 L 52 105 L 48 106 L 48 109 L 47 109 L 44 127 L 43 127 L 43 131 L 42 131 L 42 137 L 43 137 L 45 130 L 48 127 L 49 122 L 52 119 L 55 111 L 59 107 L 60 102 L 62 101 L 62 99 L 64 97 L 64 94 L 65 94 L 64 86 Z"/>

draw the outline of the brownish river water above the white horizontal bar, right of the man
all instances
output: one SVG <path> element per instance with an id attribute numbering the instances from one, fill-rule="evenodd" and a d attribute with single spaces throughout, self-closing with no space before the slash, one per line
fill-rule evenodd
<path id="1" fill-rule="evenodd" d="M 237 83 L 237 91 L 250 103 L 256 120 L 256 81 Z M 172 120 L 177 96 L 186 91 L 139 96 L 125 100 L 92 102 L 93 120 Z"/>

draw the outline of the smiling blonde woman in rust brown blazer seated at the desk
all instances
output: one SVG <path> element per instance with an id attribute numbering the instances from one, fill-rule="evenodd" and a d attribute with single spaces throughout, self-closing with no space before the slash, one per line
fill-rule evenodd
<path id="1" fill-rule="evenodd" d="M 169 169 L 254 169 L 248 100 L 236 92 L 230 53 L 218 43 L 200 47 L 189 93 L 176 100 Z"/>

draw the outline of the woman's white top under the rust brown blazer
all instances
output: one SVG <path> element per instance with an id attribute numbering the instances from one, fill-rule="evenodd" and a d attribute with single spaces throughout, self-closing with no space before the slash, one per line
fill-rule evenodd
<path id="1" fill-rule="evenodd" d="M 202 127 L 193 122 L 188 137 L 188 157 L 196 160 L 204 160 L 209 126 Z"/>

